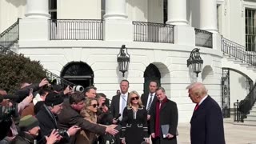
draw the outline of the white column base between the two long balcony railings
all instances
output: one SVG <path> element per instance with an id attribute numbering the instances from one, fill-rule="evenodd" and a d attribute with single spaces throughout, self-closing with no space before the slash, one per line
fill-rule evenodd
<path id="1" fill-rule="evenodd" d="M 126 19 L 126 0 L 106 0 L 105 19 Z"/>

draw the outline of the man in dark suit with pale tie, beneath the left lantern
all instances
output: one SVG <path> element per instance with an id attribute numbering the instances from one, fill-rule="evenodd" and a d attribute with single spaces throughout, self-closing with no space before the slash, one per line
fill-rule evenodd
<path id="1" fill-rule="evenodd" d="M 114 95 L 110 104 L 110 114 L 113 116 L 113 123 L 122 120 L 122 111 L 127 106 L 129 81 L 126 79 L 120 82 L 121 94 Z M 121 115 L 120 115 L 121 114 Z M 118 117 L 119 116 L 119 117 Z M 118 118 L 118 119 L 116 119 Z"/>

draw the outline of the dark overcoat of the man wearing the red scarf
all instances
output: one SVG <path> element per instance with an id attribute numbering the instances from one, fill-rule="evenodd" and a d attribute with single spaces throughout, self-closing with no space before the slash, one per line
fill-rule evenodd
<path id="1" fill-rule="evenodd" d="M 150 132 L 155 133 L 155 114 L 156 114 L 156 106 L 152 107 L 152 114 L 150 118 Z M 161 144 L 177 144 L 176 132 L 178 126 L 178 108 L 176 102 L 173 102 L 167 99 L 167 102 L 162 104 L 160 109 L 160 138 L 155 141 L 153 139 L 153 143 L 161 143 Z M 174 138 L 163 138 L 161 126 L 168 124 L 169 134 L 173 134 Z"/>

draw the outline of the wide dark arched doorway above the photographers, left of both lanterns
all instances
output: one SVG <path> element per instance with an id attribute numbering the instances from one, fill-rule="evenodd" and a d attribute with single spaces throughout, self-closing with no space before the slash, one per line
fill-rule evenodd
<path id="1" fill-rule="evenodd" d="M 83 87 L 94 85 L 94 72 L 85 62 L 70 62 L 63 68 L 61 77 Z"/>

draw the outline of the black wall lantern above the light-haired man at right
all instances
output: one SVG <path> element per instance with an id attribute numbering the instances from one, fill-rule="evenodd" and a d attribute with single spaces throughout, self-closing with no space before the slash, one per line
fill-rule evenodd
<path id="1" fill-rule="evenodd" d="M 202 64 L 203 60 L 200 57 L 200 52 L 198 48 L 195 48 L 194 50 L 191 51 L 190 53 L 190 58 L 186 60 L 186 66 L 192 66 L 192 70 L 194 71 L 195 74 L 198 74 L 202 71 Z"/>

